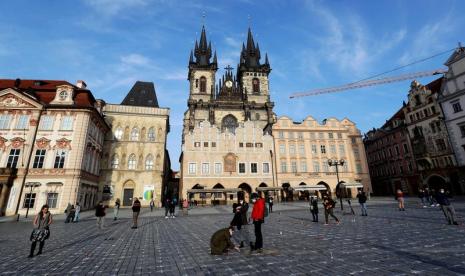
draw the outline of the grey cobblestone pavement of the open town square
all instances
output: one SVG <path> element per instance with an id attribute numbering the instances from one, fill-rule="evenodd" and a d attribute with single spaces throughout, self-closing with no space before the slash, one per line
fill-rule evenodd
<path id="1" fill-rule="evenodd" d="M 144 210 L 138 229 L 130 228 L 129 210 L 117 221 L 107 216 L 102 231 L 91 212 L 79 223 L 57 219 L 44 254 L 32 259 L 26 257 L 30 222 L 2 222 L 0 273 L 465 275 L 465 200 L 453 204 L 459 226 L 447 225 L 439 207 L 420 208 L 416 199 L 407 201 L 405 212 L 377 199 L 369 201 L 367 217 L 337 210 L 342 223 L 329 226 L 323 225 L 321 208 L 320 223 L 312 223 L 305 203 L 275 204 L 277 211 L 263 226 L 265 252 L 258 255 L 209 254 L 212 233 L 232 219 L 229 207 L 197 208 L 175 219 L 165 219 L 162 210 Z M 360 213 L 358 204 L 354 209 Z"/>

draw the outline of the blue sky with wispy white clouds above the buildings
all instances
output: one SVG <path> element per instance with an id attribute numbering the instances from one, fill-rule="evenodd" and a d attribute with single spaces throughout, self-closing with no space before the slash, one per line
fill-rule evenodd
<path id="1" fill-rule="evenodd" d="M 448 0 L 15 0 L 1 1 L 0 10 L 0 78 L 82 79 L 109 103 L 120 103 L 137 80 L 154 82 L 160 106 L 171 109 L 174 169 L 189 93 L 188 57 L 203 13 L 220 68 L 237 65 L 251 26 L 270 59 L 278 116 L 347 117 L 363 132 L 401 106 L 410 81 L 295 100 L 289 95 L 356 81 L 465 41 L 463 2 Z M 447 57 L 395 74 L 443 67 Z"/>

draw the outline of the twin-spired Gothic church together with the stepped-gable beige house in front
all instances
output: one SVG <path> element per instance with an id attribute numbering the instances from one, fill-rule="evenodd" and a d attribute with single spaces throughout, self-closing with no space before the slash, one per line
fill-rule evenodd
<path id="1" fill-rule="evenodd" d="M 195 57 L 195 60 L 194 60 Z M 184 114 L 181 198 L 204 203 L 226 203 L 273 181 L 268 57 L 249 29 L 236 74 L 225 68 L 216 83 L 216 53 L 202 29 L 189 60 L 188 110 Z"/>

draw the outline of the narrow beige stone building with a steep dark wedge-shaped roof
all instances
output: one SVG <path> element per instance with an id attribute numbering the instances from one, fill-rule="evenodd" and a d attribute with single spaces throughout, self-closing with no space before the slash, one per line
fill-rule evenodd
<path id="1" fill-rule="evenodd" d="M 111 126 L 100 176 L 104 199 L 130 206 L 137 197 L 147 206 L 153 197 L 160 204 L 169 172 L 169 109 L 158 107 L 153 83 L 136 82 L 120 105 L 107 104 L 103 112 Z"/>

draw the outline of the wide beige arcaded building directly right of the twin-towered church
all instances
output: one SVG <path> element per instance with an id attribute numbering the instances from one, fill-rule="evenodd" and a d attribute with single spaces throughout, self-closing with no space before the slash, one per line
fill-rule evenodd
<path id="1" fill-rule="evenodd" d="M 355 196 L 359 186 L 372 191 L 362 136 L 353 122 L 329 118 L 318 123 L 311 116 L 300 123 L 282 116 L 273 125 L 277 183 L 282 199 L 306 198 L 314 191 L 336 194 L 343 183 L 347 196 Z M 330 166 L 328 160 L 343 160 Z M 344 190 L 344 189 L 342 189 Z"/>

